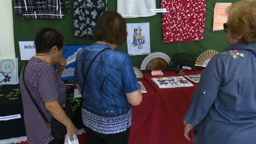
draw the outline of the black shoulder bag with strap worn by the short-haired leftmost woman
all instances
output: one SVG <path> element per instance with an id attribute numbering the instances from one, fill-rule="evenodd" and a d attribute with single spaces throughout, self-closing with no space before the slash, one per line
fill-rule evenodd
<path id="1" fill-rule="evenodd" d="M 63 124 L 57 121 L 54 117 L 52 117 L 51 123 L 47 120 L 42 109 L 39 107 L 38 103 L 36 103 L 35 98 L 32 96 L 31 92 L 28 90 L 26 81 L 24 81 L 24 71 L 26 69 L 26 66 L 27 66 L 27 63 L 24 65 L 22 77 L 23 77 L 23 83 L 24 83 L 24 87 L 26 88 L 27 94 L 30 96 L 30 99 L 35 104 L 35 107 L 36 109 L 38 109 L 38 112 L 40 113 L 40 115 L 44 118 L 44 121 L 46 121 L 46 123 L 51 126 L 51 133 L 53 135 L 53 138 L 62 139 L 64 135 L 67 134 L 67 129 Z M 62 104 L 61 107 L 63 108 L 64 112 L 71 120 L 75 118 L 75 114 L 73 113 L 73 110 L 72 110 L 72 105 L 68 103 L 68 101 L 67 103 Z"/>

